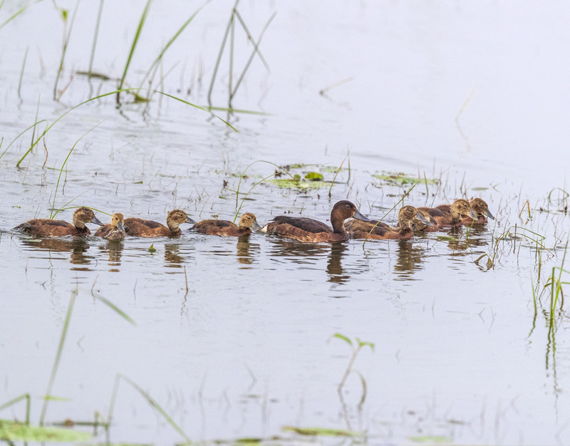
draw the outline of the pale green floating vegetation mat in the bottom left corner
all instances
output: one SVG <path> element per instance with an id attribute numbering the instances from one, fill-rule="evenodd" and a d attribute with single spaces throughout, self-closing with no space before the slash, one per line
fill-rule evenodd
<path id="1" fill-rule="evenodd" d="M 0 420 L 0 440 L 34 442 L 85 442 L 91 440 L 89 432 L 63 427 L 30 426 L 23 422 Z"/>

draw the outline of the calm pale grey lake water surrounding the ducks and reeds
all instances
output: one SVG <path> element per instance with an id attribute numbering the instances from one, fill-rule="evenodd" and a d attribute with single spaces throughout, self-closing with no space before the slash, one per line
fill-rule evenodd
<path id="1" fill-rule="evenodd" d="M 151 4 L 125 87 L 147 86 L 148 68 L 200 5 Z M 76 4 L 57 6 L 71 21 Z M 233 6 L 204 6 L 168 48 L 152 90 L 208 105 Z M 107 418 L 121 373 L 194 442 L 568 444 L 569 316 L 564 300 L 552 311 L 542 291 L 564 265 L 569 234 L 570 6 L 242 0 L 254 38 L 276 16 L 259 46 L 263 61 L 253 58 L 232 100 L 256 113 L 214 110 L 237 132 L 159 93 L 150 103 L 123 93 L 120 106 L 109 95 L 71 110 L 16 167 L 32 130 L 16 137 L 28 126 L 46 120 L 37 138 L 73 106 L 118 88 L 144 7 L 103 5 L 93 59 L 93 71 L 111 78 L 103 81 L 77 74 L 89 68 L 99 8 L 78 4 L 54 100 L 65 35 L 56 5 L 1 6 L 0 26 L 25 10 L 0 28 L 0 405 L 29 393 L 38 424 L 73 302 L 46 425 Z M 219 108 L 252 53 L 239 21 L 231 80 L 230 45 L 212 89 Z M 328 187 L 270 181 L 287 165 L 291 175 L 331 181 L 341 164 L 330 198 Z M 405 204 L 478 196 L 497 220 L 364 245 L 187 230 L 110 243 L 11 231 L 54 205 L 100 209 L 103 222 L 113 212 L 164 222 L 177 207 L 194 219 L 234 219 L 242 205 L 263 224 L 284 212 L 326 221 L 340 199 L 395 223 L 390 209 L 411 184 L 373 175 L 397 172 L 425 179 Z M 359 351 L 341 392 L 352 351 L 336 333 L 374 344 Z M 24 417 L 24 403 L 0 412 Z M 185 437 L 122 380 L 112 425 L 90 443 L 107 440 Z"/>

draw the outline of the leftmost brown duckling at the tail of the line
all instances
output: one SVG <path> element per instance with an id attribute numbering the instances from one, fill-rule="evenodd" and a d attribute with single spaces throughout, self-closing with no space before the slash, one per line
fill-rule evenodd
<path id="1" fill-rule="evenodd" d="M 14 229 L 37 236 L 62 237 L 64 235 L 89 235 L 91 234 L 86 223 L 95 223 L 103 226 L 103 223 L 95 217 L 95 213 L 88 207 L 80 207 L 73 212 L 73 224 L 63 220 L 32 219 L 19 224 Z"/>

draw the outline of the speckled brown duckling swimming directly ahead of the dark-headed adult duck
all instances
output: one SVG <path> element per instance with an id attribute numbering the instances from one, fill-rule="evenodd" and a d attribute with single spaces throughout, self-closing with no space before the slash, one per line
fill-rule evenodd
<path id="1" fill-rule="evenodd" d="M 432 226 L 423 214 L 413 206 L 404 206 L 398 212 L 398 227 L 386 227 L 387 225 L 375 226 L 376 222 L 353 222 L 351 224 L 351 238 L 353 239 L 375 239 L 375 240 L 395 240 L 411 239 L 415 231 L 415 221 L 424 224 L 426 227 Z"/>

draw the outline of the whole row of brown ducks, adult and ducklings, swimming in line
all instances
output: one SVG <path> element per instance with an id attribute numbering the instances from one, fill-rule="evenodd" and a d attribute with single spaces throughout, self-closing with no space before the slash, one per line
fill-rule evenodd
<path id="1" fill-rule="evenodd" d="M 193 224 L 191 232 L 224 237 L 242 237 L 252 234 L 257 229 L 268 235 L 292 239 L 304 243 L 343 242 L 348 239 L 410 239 L 415 232 L 433 232 L 444 227 L 470 226 L 484 224 L 487 217 L 494 219 L 486 202 L 481 198 L 457 199 L 452 204 L 440 204 L 437 207 L 404 206 L 398 212 L 398 226 L 368 217 L 358 211 L 355 204 L 341 200 L 331 210 L 331 225 L 308 217 L 290 217 L 279 215 L 264 227 L 257 223 L 251 212 L 242 214 L 239 224 L 228 220 L 206 219 L 195 222 L 182 209 L 168 212 L 167 226 L 135 217 L 123 218 L 115 213 L 110 224 L 103 224 L 95 217 L 92 209 L 80 207 L 73 213 L 73 224 L 62 220 L 31 219 L 19 224 L 14 229 L 38 237 L 86 236 L 90 230 L 87 223 L 99 224 L 95 237 L 108 240 L 122 240 L 125 237 L 177 237 L 182 234 L 180 224 Z M 346 221 L 348 220 L 348 222 Z"/>

